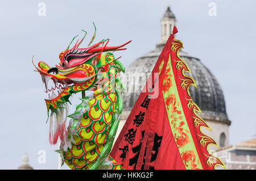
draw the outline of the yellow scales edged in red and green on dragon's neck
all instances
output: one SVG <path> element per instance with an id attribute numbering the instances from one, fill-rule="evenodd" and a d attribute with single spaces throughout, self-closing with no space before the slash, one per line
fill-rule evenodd
<path id="1" fill-rule="evenodd" d="M 114 93 L 98 89 L 88 101 L 90 108 L 85 110 L 77 128 L 79 136 L 73 136 L 76 144 L 72 143 L 72 148 L 63 153 L 64 162 L 71 169 L 89 169 L 100 155 L 112 124 L 116 100 Z"/>

